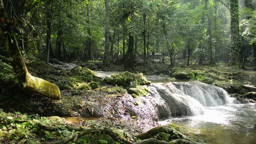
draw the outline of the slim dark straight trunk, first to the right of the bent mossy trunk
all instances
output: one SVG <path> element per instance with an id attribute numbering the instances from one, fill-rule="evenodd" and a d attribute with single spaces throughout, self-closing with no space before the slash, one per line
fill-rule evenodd
<path id="1" fill-rule="evenodd" d="M 51 27 L 52 27 L 52 0 L 47 0 L 46 8 L 49 8 L 46 12 L 46 24 L 47 24 L 47 32 L 46 32 L 46 62 L 49 62 L 50 58 L 50 43 L 51 43 Z"/>

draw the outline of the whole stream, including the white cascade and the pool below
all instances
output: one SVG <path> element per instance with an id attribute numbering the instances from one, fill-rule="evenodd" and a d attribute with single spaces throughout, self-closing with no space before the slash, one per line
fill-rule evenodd
<path id="1" fill-rule="evenodd" d="M 99 77 L 114 73 L 96 72 Z M 153 82 L 149 96 L 165 104 L 158 107 L 161 125 L 174 122 L 209 144 L 256 144 L 256 104 L 239 104 L 222 88 L 202 82 L 145 77 Z"/>

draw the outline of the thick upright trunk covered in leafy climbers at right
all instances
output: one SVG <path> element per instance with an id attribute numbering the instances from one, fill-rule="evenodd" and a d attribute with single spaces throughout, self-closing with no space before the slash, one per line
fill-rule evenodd
<path id="1" fill-rule="evenodd" d="M 231 50 L 230 61 L 228 65 L 236 65 L 240 63 L 242 65 L 241 57 L 241 44 L 239 38 L 239 1 L 230 0 L 230 16 L 231 16 Z"/>

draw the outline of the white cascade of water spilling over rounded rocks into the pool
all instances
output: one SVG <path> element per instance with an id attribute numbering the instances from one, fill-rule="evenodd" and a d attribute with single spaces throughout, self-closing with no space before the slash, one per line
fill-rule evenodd
<path id="1" fill-rule="evenodd" d="M 156 83 L 148 87 L 151 96 L 165 101 L 171 116 L 196 116 L 204 114 L 205 106 L 220 106 L 228 103 L 228 93 L 217 86 L 202 82 Z"/>

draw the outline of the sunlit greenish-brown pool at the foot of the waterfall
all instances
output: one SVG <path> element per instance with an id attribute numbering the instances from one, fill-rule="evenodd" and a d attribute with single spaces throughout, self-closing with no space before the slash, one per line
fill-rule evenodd
<path id="1" fill-rule="evenodd" d="M 256 104 L 206 107 L 204 115 L 170 118 L 160 123 L 171 122 L 209 144 L 256 144 Z"/>

